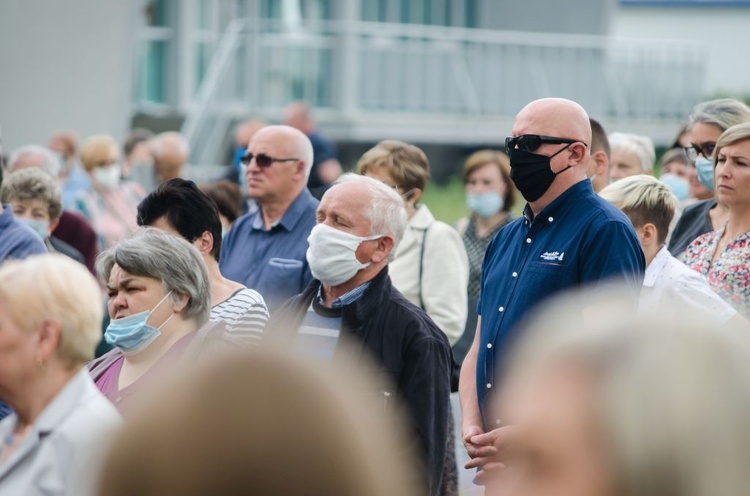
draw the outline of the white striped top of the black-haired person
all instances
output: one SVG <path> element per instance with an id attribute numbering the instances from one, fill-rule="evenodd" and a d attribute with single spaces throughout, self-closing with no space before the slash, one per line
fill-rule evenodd
<path id="1" fill-rule="evenodd" d="M 211 308 L 208 320 L 224 322 L 227 336 L 234 341 L 258 344 L 268 321 L 268 309 L 257 291 L 242 288 Z"/>

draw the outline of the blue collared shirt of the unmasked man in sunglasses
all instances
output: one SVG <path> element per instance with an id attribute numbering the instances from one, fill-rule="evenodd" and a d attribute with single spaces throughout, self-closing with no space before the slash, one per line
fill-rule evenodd
<path id="1" fill-rule="evenodd" d="M 304 189 L 271 229 L 266 230 L 260 209 L 237 219 L 222 242 L 222 275 L 259 292 L 270 312 L 301 293 L 312 281 L 307 237 L 318 204 Z"/>

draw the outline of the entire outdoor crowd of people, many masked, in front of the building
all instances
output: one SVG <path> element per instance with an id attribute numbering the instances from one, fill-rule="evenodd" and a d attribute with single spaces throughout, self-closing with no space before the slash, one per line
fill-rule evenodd
<path id="1" fill-rule="evenodd" d="M 0 494 L 745 494 L 750 108 L 610 131 L 528 103 L 455 225 L 303 102 L 205 184 L 174 131 L 12 150 Z"/>

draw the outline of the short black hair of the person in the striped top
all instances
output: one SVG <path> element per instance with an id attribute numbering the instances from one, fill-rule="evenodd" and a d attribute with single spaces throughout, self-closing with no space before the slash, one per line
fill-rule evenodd
<path id="1" fill-rule="evenodd" d="M 219 209 L 193 181 L 180 178 L 165 181 L 138 205 L 138 225 L 150 226 L 162 217 L 191 243 L 208 231 L 214 240 L 211 255 L 219 260 Z"/>

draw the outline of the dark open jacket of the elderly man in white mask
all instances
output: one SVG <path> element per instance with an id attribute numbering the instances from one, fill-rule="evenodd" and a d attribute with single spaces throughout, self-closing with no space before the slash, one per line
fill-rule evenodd
<path id="1" fill-rule="evenodd" d="M 313 281 L 274 312 L 267 327 L 274 339 L 279 335 L 294 339 L 319 289 L 320 281 Z M 355 336 L 395 384 L 420 441 L 429 493 L 437 494 L 449 434 L 452 358 L 447 338 L 424 311 L 391 285 L 387 267 L 342 312 L 340 342 L 344 336 Z"/>

